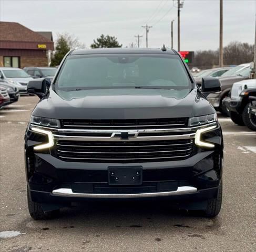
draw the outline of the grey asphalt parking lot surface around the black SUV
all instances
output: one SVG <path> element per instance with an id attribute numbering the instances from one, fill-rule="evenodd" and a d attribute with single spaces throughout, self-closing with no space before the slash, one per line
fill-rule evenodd
<path id="1" fill-rule="evenodd" d="M 256 133 L 219 116 L 224 135 L 223 203 L 216 218 L 165 205 L 76 204 L 54 220 L 30 218 L 24 132 L 37 97 L 0 110 L 1 251 L 255 251 Z"/>

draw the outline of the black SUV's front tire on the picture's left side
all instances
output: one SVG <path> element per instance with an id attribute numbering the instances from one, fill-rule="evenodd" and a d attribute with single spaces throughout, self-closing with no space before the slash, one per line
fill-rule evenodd
<path id="1" fill-rule="evenodd" d="M 53 219 L 59 216 L 59 209 L 44 212 L 41 203 L 34 202 L 30 199 L 29 191 L 27 188 L 27 206 L 30 216 L 35 219 Z"/>

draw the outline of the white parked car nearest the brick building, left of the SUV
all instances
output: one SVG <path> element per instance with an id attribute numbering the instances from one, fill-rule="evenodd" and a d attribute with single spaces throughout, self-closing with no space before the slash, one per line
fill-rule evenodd
<path id="1" fill-rule="evenodd" d="M 11 82 L 21 95 L 27 94 L 27 83 L 33 80 L 23 69 L 13 67 L 0 67 L 0 78 Z"/>

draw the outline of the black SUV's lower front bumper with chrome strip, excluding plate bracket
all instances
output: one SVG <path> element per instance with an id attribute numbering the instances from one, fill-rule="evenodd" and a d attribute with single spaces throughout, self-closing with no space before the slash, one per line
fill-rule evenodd
<path id="1" fill-rule="evenodd" d="M 30 159 L 29 159 L 30 158 Z M 50 154 L 26 154 L 27 183 L 32 201 L 67 203 L 88 198 L 173 198 L 205 200 L 217 195 L 222 153 L 200 152 L 182 161 L 132 164 L 142 166 L 140 186 L 109 186 L 108 167 L 120 164 L 65 162 Z M 129 167 L 131 164 L 122 164 Z"/>

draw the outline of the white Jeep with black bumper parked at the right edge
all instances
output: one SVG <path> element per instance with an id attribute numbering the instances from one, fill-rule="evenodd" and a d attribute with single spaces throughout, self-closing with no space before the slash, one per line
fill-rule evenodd
<path id="1" fill-rule="evenodd" d="M 256 130 L 256 118 L 248 113 L 249 97 L 255 95 L 256 79 L 250 79 L 235 82 L 231 89 L 231 96 L 223 99 L 231 120 L 238 125 L 245 124 L 251 130 Z"/>

